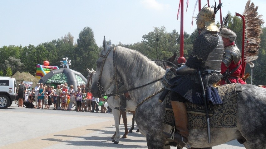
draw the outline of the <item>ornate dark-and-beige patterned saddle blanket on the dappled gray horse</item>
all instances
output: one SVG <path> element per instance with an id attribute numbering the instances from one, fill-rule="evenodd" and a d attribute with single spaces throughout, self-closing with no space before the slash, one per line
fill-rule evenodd
<path id="1" fill-rule="evenodd" d="M 218 87 L 218 93 L 223 101 L 221 105 L 208 105 L 210 128 L 236 127 L 237 94 L 242 91 L 241 84 L 225 84 Z M 170 95 L 165 96 L 164 123 L 175 125 L 174 113 L 170 103 Z M 188 128 L 207 128 L 204 106 L 186 102 L 188 112 Z"/>

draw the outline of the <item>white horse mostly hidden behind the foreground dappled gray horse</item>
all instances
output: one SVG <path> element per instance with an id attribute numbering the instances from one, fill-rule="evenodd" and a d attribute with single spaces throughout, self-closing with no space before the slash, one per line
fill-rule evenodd
<path id="1" fill-rule="evenodd" d="M 109 43 L 111 43 L 111 42 L 109 42 Z M 91 68 L 91 70 L 87 68 L 87 71 L 89 72 L 89 75 L 87 76 L 87 87 L 90 89 L 91 85 L 92 85 L 91 82 L 94 81 L 94 78 L 96 76 L 95 75 L 96 71 L 94 71 L 92 68 Z M 107 94 L 111 94 L 114 87 L 115 87 L 115 85 L 111 86 L 109 88 L 109 91 L 107 92 Z M 106 102 L 108 103 L 108 106 L 112 109 L 112 113 L 113 113 L 114 119 L 115 119 L 116 133 L 112 137 L 113 138 L 112 142 L 114 142 L 114 144 L 118 144 L 119 139 L 121 137 L 120 131 L 119 131 L 120 111 L 115 109 L 115 107 L 120 107 L 120 98 L 115 99 L 115 96 L 111 96 L 108 98 L 108 100 Z M 128 111 L 135 111 L 136 104 L 132 100 L 127 100 L 126 104 L 127 104 L 127 110 Z M 124 124 L 126 125 L 126 123 L 127 122 L 125 122 Z M 122 138 L 126 138 L 127 134 L 128 134 L 128 131 L 125 130 L 125 134 L 123 135 Z"/>

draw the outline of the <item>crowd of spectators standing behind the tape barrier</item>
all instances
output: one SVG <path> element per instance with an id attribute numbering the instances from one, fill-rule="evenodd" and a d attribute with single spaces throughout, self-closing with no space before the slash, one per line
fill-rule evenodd
<path id="1" fill-rule="evenodd" d="M 73 85 L 68 86 L 66 82 L 57 85 L 56 89 L 54 86 L 43 83 L 37 83 L 31 90 L 28 90 L 27 86 L 24 87 L 24 98 L 22 102 L 23 107 L 26 108 L 52 109 L 50 106 L 53 105 L 54 110 L 99 111 L 99 99 L 94 98 L 91 92 L 86 90 L 85 84 L 77 85 L 76 91 Z M 35 102 L 35 105 L 33 102 Z M 19 105 L 19 107 L 22 107 L 22 105 Z M 72 109 L 73 107 L 75 109 Z M 103 105 L 101 106 L 101 113 L 106 113 L 106 108 Z"/>

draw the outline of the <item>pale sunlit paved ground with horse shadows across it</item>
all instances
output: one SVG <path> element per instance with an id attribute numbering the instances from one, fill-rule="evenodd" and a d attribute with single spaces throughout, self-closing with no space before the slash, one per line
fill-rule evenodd
<path id="1" fill-rule="evenodd" d="M 0 109 L 0 149 L 146 149 L 140 133 L 129 133 L 119 144 L 113 144 L 115 132 L 112 114 L 47 109 L 26 109 L 12 104 Z M 132 115 L 128 114 L 128 127 Z M 124 128 L 120 125 L 121 134 Z M 122 136 L 121 135 L 121 136 Z M 176 147 L 171 147 L 175 149 Z M 213 149 L 244 149 L 237 141 Z"/>

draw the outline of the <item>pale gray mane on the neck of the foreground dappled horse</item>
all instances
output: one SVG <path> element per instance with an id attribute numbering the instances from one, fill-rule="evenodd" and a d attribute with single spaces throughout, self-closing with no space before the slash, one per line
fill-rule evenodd
<path id="1" fill-rule="evenodd" d="M 123 69 L 125 69 L 128 73 L 132 73 L 132 71 L 134 71 L 137 77 L 150 76 L 155 78 L 160 76 L 160 72 L 161 76 L 165 74 L 165 72 L 162 71 L 162 67 L 156 65 L 155 62 L 151 61 L 140 52 L 132 49 L 117 46 L 115 59 L 118 64 L 117 67 L 119 67 L 119 65 L 123 66 Z M 154 73 L 156 75 L 151 76 L 151 72 L 157 73 Z"/>

